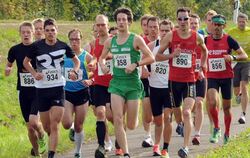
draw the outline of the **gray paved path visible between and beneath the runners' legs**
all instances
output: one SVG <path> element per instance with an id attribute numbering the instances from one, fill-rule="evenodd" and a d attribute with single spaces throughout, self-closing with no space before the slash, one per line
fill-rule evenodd
<path id="1" fill-rule="evenodd" d="M 249 109 L 249 108 L 248 108 Z M 250 127 L 250 112 L 247 112 L 247 124 L 245 125 L 240 125 L 238 123 L 238 117 L 240 114 L 240 107 L 236 107 L 232 109 L 233 111 L 233 120 L 232 120 L 232 126 L 231 126 L 231 136 L 235 136 L 236 134 L 239 134 L 240 132 L 244 131 L 247 127 Z M 249 110 L 248 110 L 249 111 Z M 222 128 L 222 135 L 224 131 L 224 117 L 222 111 L 220 111 L 220 124 Z M 153 126 L 154 127 L 154 126 Z M 180 147 L 183 144 L 183 138 L 178 136 L 175 132 L 176 128 L 176 123 L 173 124 L 173 136 L 172 140 L 169 146 L 169 154 L 171 158 L 176 158 L 178 157 L 177 151 L 180 149 Z M 154 132 L 152 132 L 154 133 Z M 130 155 L 133 158 L 150 158 L 152 156 L 152 148 L 142 148 L 141 147 L 141 142 L 143 140 L 143 129 L 142 127 L 137 128 L 134 131 L 128 131 L 127 132 L 127 137 L 128 137 L 128 144 L 129 144 L 129 151 Z M 210 149 L 219 147 L 223 144 L 223 137 L 221 137 L 220 141 L 218 144 L 211 144 L 209 143 L 209 123 L 208 123 L 208 118 L 207 115 L 205 115 L 204 123 L 203 123 L 203 128 L 201 132 L 201 145 L 200 146 L 193 146 L 190 145 L 189 151 L 190 151 L 190 158 L 196 157 L 198 154 L 206 153 Z M 112 140 L 114 140 L 114 137 L 112 137 Z M 94 158 L 94 151 L 97 148 L 97 143 L 96 140 L 93 142 L 83 144 L 82 147 L 82 156 L 83 158 Z M 64 153 L 63 155 L 58 155 L 58 157 L 62 158 L 72 158 L 73 157 L 73 149 L 71 152 Z M 108 153 L 109 158 L 116 158 L 114 155 L 114 151 L 111 151 Z"/>

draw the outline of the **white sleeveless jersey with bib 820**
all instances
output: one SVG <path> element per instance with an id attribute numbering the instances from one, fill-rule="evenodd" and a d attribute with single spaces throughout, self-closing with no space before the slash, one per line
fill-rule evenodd
<path id="1" fill-rule="evenodd" d="M 155 41 L 155 47 L 153 49 L 154 56 L 157 54 L 160 48 L 160 40 Z M 163 54 L 169 54 L 169 49 L 166 49 Z M 149 85 L 154 88 L 168 88 L 168 75 L 169 75 L 169 64 L 168 60 L 154 62 L 151 65 L 150 76 L 148 77 Z"/>

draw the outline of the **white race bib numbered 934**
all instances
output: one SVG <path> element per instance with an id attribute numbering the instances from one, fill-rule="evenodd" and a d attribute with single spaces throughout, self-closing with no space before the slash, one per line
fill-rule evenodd
<path id="1" fill-rule="evenodd" d="M 42 84 L 44 85 L 53 85 L 53 84 L 60 83 L 62 81 L 61 70 L 46 69 L 46 70 L 42 70 L 42 74 L 43 74 Z"/>

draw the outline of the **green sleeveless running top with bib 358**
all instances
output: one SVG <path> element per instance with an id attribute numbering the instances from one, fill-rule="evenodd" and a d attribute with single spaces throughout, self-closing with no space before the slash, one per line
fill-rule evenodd
<path id="1" fill-rule="evenodd" d="M 135 34 L 130 33 L 127 41 L 121 45 L 117 44 L 117 36 L 111 40 L 110 51 L 113 55 L 113 78 L 116 79 L 139 79 L 139 68 L 137 67 L 132 73 L 125 73 L 127 65 L 136 63 L 140 60 L 140 52 L 134 49 Z"/>

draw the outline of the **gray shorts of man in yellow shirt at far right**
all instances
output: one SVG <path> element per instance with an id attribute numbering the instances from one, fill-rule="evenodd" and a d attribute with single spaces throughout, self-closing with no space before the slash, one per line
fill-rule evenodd
<path id="1" fill-rule="evenodd" d="M 249 81 L 250 62 L 237 63 L 234 67 L 233 86 L 239 87 L 240 81 Z"/>

